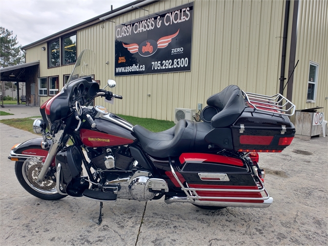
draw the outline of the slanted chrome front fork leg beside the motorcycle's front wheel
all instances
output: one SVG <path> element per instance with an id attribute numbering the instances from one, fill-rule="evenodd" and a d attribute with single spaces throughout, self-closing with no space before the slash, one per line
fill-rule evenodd
<path id="1" fill-rule="evenodd" d="M 44 180 L 44 178 L 50 168 L 52 160 L 55 157 L 56 153 L 58 152 L 61 142 L 63 141 L 63 133 L 64 133 L 64 130 L 59 130 L 58 133 L 53 137 L 52 145 L 50 146 L 50 149 L 49 149 L 48 155 L 46 157 L 46 160 L 44 162 L 44 165 L 43 165 L 39 175 L 37 176 L 36 182 L 40 183 L 40 182 L 42 182 L 42 180 Z"/>

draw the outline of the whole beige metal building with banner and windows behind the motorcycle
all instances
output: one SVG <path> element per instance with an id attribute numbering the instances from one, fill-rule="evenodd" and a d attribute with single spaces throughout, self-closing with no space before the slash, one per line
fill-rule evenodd
<path id="1" fill-rule="evenodd" d="M 297 109 L 328 115 L 327 40 L 324 0 L 135 1 L 23 47 L 27 63 L 39 61 L 27 104 L 58 93 L 76 55 L 91 49 L 94 79 L 115 79 L 124 97 L 96 99 L 114 113 L 174 120 L 175 108 L 206 106 L 228 85 L 272 95 L 290 77 L 283 94 Z"/>

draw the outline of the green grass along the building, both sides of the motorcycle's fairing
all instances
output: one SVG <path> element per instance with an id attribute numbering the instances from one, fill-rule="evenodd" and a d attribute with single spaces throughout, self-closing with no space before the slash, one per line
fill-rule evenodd
<path id="1" fill-rule="evenodd" d="M 1 111 L 0 111 L 1 112 Z M 149 119 L 149 118 L 138 118 L 133 116 L 119 115 L 120 117 L 128 120 L 133 125 L 140 125 L 152 132 L 161 132 L 165 131 L 174 126 L 173 121 L 168 120 L 158 120 L 158 119 Z M 40 116 L 35 116 L 40 117 Z M 8 126 L 18 128 L 24 131 L 33 132 L 32 125 L 34 119 L 30 118 L 22 118 L 22 119 L 2 119 L 1 123 L 6 124 Z"/>

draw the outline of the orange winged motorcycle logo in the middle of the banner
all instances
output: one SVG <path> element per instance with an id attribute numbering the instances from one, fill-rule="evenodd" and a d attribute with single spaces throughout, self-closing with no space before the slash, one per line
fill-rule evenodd
<path id="1" fill-rule="evenodd" d="M 140 45 L 138 44 L 126 45 L 124 43 L 122 43 L 122 45 L 125 48 L 127 48 L 131 54 L 138 52 L 139 55 L 147 57 L 147 56 L 151 56 L 152 54 L 155 54 L 157 49 L 162 49 L 167 47 L 171 43 L 172 38 L 176 37 L 179 34 L 179 31 L 180 29 L 172 35 L 163 36 L 159 38 L 157 42 L 155 40 L 148 39 L 142 42 Z"/>

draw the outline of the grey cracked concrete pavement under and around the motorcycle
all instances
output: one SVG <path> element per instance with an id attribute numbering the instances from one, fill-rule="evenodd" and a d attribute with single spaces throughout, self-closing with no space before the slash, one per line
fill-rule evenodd
<path id="1" fill-rule="evenodd" d="M 26 107 L 26 106 L 23 106 Z M 28 108 L 28 107 L 27 107 Z M 38 114 L 31 115 L 37 116 Z M 3 117 L 3 116 L 1 116 Z M 28 116 L 29 117 L 29 116 Z M 326 245 L 328 137 L 260 153 L 267 209 L 202 210 L 188 203 L 38 199 L 18 183 L 11 147 L 37 135 L 0 124 L 0 245 Z"/>

